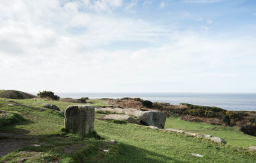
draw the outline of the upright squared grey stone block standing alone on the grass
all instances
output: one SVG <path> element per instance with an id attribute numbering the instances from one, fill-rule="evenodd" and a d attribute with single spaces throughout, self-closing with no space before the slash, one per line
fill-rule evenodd
<path id="1" fill-rule="evenodd" d="M 94 107 L 90 105 L 70 105 L 65 110 L 65 128 L 68 132 L 81 136 L 94 130 Z"/>

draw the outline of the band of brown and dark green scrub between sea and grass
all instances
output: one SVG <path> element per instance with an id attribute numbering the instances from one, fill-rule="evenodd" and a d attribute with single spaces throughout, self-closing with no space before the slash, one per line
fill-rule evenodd
<path id="1" fill-rule="evenodd" d="M 143 107 L 140 98 L 132 99 L 125 97 L 122 99 L 104 99 L 106 103 L 123 108 L 137 108 L 142 110 L 159 110 L 167 117 L 179 116 L 182 120 L 190 122 L 205 122 L 213 125 L 237 126 L 246 134 L 256 136 L 256 111 L 227 111 L 218 107 L 197 106 L 182 103 L 172 105 L 169 103 L 153 103 L 151 108 Z M 228 123 L 223 120 L 228 118 Z M 253 131 L 252 131 L 253 130 Z"/>

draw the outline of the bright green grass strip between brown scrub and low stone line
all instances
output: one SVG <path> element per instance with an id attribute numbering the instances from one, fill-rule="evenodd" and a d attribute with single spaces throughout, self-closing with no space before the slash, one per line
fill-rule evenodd
<path id="1" fill-rule="evenodd" d="M 234 146 L 256 146 L 256 137 L 244 134 L 236 127 L 225 127 L 221 125 L 210 125 L 203 122 L 188 122 L 180 118 L 167 118 L 164 129 L 180 129 L 188 132 L 211 134 L 227 141 L 228 145 Z"/>

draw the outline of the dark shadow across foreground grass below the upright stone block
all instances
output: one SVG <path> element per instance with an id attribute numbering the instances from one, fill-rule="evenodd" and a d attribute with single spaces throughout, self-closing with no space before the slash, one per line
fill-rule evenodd
<path id="1" fill-rule="evenodd" d="M 93 134 L 95 135 L 95 134 Z M 39 147 L 29 146 L 23 150 L 55 152 L 62 159 L 71 158 L 74 162 L 182 162 L 124 143 L 106 143 L 106 140 L 92 137 L 79 137 L 74 134 L 51 134 L 38 136 Z M 67 153 L 67 150 L 73 150 Z M 104 152 L 109 150 L 109 152 Z"/>

